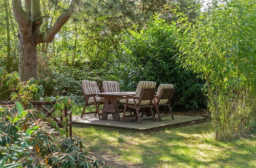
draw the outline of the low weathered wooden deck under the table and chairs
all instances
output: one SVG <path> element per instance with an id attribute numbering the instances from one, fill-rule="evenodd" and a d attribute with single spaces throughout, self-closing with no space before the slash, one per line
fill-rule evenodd
<path id="1" fill-rule="evenodd" d="M 157 115 L 156 115 L 157 116 Z M 80 116 L 72 117 L 72 126 L 75 127 L 108 127 L 115 129 L 128 129 L 128 130 L 139 130 L 148 131 L 153 129 L 159 129 L 163 127 L 177 127 L 181 125 L 188 125 L 190 123 L 200 122 L 205 120 L 203 117 L 195 116 L 178 116 L 174 115 L 175 120 L 172 119 L 170 115 L 161 115 L 162 121 L 160 122 L 156 117 L 156 122 L 154 123 L 152 117 L 142 117 L 141 124 L 135 121 L 135 118 L 127 118 L 129 121 L 118 122 L 113 121 L 111 115 L 109 115 L 108 120 L 99 120 L 98 117 L 94 117 L 94 114 L 86 114 L 81 119 Z"/>

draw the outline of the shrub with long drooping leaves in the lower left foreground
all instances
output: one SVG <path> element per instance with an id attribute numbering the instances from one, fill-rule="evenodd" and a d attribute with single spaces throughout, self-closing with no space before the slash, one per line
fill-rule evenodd
<path id="1" fill-rule="evenodd" d="M 35 79 L 20 82 L 16 72 L 7 74 L 0 68 L 0 81 L 1 87 L 10 88 L 11 100 L 21 102 L 16 101 L 15 107 L 0 106 L 0 167 L 106 167 L 89 153 L 80 137 L 62 137 L 67 136 L 65 122 L 64 128 L 58 128 L 29 105 L 44 92 Z M 55 104 L 56 117 L 62 115 L 64 105 L 69 105 L 67 98 Z"/>

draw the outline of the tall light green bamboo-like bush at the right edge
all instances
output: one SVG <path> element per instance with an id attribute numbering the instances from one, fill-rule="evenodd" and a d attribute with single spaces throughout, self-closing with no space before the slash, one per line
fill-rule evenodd
<path id="1" fill-rule="evenodd" d="M 217 139 L 255 126 L 255 2 L 219 1 L 195 23 L 177 13 L 184 67 L 204 76 Z"/>

